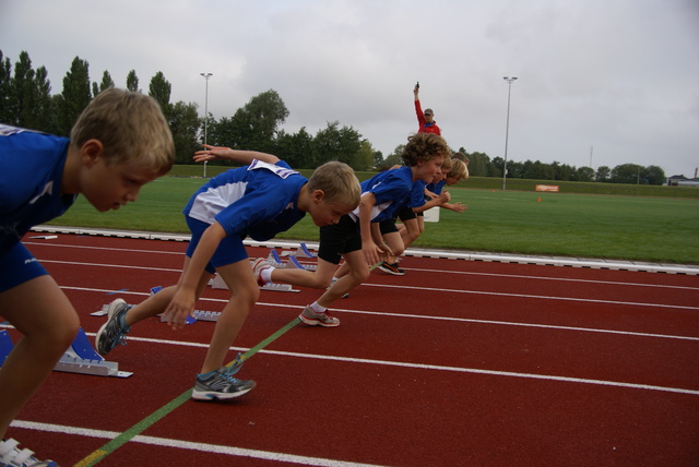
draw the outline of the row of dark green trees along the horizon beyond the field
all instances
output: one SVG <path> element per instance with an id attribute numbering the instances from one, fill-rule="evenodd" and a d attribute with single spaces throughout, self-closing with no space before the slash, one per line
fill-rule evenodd
<path id="1" fill-rule="evenodd" d="M 51 94 L 51 83 L 45 67 L 34 69 L 28 52 L 22 51 L 12 67 L 0 50 L 0 122 L 68 136 L 73 122 L 87 104 L 102 91 L 117 85 L 108 71 L 99 82 L 90 79 L 90 64 L 75 57 L 62 80 L 62 91 Z M 143 92 L 135 70 L 126 76 L 126 88 Z M 287 133 L 281 125 L 289 115 L 282 97 L 269 89 L 252 97 L 230 117 L 214 119 L 211 113 L 199 116 L 196 103 L 170 103 L 171 84 L 162 72 L 149 83 L 147 94 L 163 109 L 175 140 L 176 164 L 191 164 L 192 154 L 205 139 L 209 144 L 275 154 L 295 168 L 315 168 L 328 160 L 340 160 L 355 170 L 371 170 L 401 164 L 403 145 L 386 157 L 353 127 L 339 121 L 328 122 L 315 135 L 306 128 Z M 505 160 L 485 153 L 459 152 L 469 159 L 473 177 L 502 177 Z M 227 164 L 214 161 L 211 164 Z M 609 168 L 569 166 L 567 164 L 526 160 L 507 161 L 508 178 L 561 181 L 602 181 L 614 183 L 663 184 L 665 175 L 657 166 L 641 167 L 624 164 Z"/>

